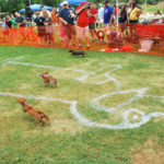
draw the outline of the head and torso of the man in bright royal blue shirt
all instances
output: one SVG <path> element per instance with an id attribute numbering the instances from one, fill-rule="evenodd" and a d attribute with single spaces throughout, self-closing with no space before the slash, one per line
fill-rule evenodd
<path id="1" fill-rule="evenodd" d="M 105 0 L 105 8 L 104 8 L 104 24 L 112 25 L 114 23 L 114 9 L 109 5 L 109 1 Z"/>

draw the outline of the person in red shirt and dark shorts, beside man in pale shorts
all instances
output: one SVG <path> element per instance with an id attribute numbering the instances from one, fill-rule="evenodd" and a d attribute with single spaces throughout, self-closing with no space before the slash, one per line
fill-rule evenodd
<path id="1" fill-rule="evenodd" d="M 97 10 L 92 7 L 91 2 L 87 2 L 90 16 L 89 16 L 89 28 L 92 35 L 92 39 L 95 40 L 95 27 L 96 27 L 96 17 L 97 17 Z"/>

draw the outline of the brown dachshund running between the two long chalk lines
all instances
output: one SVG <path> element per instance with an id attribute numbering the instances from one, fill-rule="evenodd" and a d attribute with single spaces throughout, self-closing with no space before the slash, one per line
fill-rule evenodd
<path id="1" fill-rule="evenodd" d="M 48 72 L 44 72 L 39 74 L 43 78 L 46 85 L 52 84 L 52 86 L 57 86 L 57 80 L 52 77 L 48 77 Z"/>

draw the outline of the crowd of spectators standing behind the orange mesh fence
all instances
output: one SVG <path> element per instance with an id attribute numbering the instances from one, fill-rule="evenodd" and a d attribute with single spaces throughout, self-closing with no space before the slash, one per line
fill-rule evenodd
<path id="1" fill-rule="evenodd" d="M 78 8 L 69 7 L 67 1 L 60 4 L 60 10 L 47 11 L 40 7 L 40 11 L 35 12 L 35 25 L 40 44 L 55 45 L 55 33 L 58 32 L 63 47 L 74 46 L 90 48 L 90 43 L 95 42 L 95 30 L 101 27 L 104 31 L 110 30 L 119 23 L 120 33 L 126 32 L 127 23 L 139 23 L 141 8 L 134 0 L 128 4 L 122 3 L 120 9 L 116 4 L 110 4 L 108 0 L 104 4 L 99 3 L 97 9 L 92 2 L 82 1 Z M 7 15 L 1 21 L 3 30 L 25 28 L 27 21 L 19 12 Z M 91 39 L 90 39 L 91 38 Z M 75 42 L 78 39 L 78 42 Z M 78 45 L 77 45 L 78 43 Z"/>

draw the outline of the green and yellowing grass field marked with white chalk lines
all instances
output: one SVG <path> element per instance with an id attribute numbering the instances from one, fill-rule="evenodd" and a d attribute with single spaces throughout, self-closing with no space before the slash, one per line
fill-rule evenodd
<path id="1" fill-rule="evenodd" d="M 138 54 L 89 51 L 82 58 L 72 57 L 67 49 L 0 47 L 0 164 L 163 164 L 163 62 L 164 57 Z M 58 87 L 44 85 L 38 77 L 44 71 L 58 80 Z M 83 82 L 78 80 L 89 71 L 92 73 Z M 136 96 L 133 90 L 141 89 L 147 89 L 144 96 Z M 93 101 L 106 93 L 116 94 L 96 104 L 116 109 L 110 113 L 96 109 Z M 27 96 L 51 124 L 40 126 L 24 114 L 17 95 Z M 70 104 L 30 96 L 75 101 L 80 117 Z M 119 128 L 122 114 L 130 108 L 136 110 L 128 115 L 129 122 Z M 139 110 L 152 117 L 130 129 L 129 125 L 138 125 L 144 117 Z M 110 127 L 84 124 L 82 117 Z"/>

